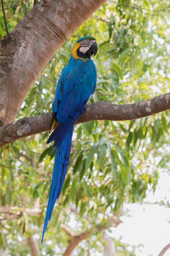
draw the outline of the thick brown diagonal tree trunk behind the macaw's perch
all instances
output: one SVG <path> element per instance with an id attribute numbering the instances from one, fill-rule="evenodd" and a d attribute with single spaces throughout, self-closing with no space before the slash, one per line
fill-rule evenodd
<path id="1" fill-rule="evenodd" d="M 0 126 L 14 121 L 58 48 L 106 0 L 42 0 L 0 43 Z"/>

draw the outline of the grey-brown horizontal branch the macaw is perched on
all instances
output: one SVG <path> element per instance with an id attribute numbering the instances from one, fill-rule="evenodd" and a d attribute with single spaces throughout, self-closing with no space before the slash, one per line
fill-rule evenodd
<path id="1" fill-rule="evenodd" d="M 86 110 L 76 124 L 92 120 L 133 120 L 150 116 L 170 109 L 170 93 L 133 104 L 117 105 L 109 102 L 97 102 L 87 105 Z M 34 117 L 24 117 L 6 126 L 0 127 L 0 147 L 50 128 L 51 113 Z"/>

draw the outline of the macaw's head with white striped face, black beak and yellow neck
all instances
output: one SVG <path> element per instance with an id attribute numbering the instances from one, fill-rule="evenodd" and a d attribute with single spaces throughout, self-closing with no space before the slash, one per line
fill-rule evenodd
<path id="1" fill-rule="evenodd" d="M 94 37 L 82 37 L 73 46 L 72 56 L 75 59 L 90 59 L 96 55 L 98 50 L 97 42 Z"/>

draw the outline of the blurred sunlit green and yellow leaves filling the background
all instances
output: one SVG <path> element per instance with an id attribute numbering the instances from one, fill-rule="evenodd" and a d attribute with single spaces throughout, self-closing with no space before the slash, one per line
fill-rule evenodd
<path id="1" fill-rule="evenodd" d="M 5 6 L 19 3 L 7 0 Z M 133 103 L 169 91 L 170 2 L 131 2 L 132 6 L 156 12 L 126 5 L 123 8 L 124 3 L 130 4 L 107 1 L 60 48 L 42 71 L 45 77 L 40 75 L 33 85 L 17 119 L 51 111 L 56 86 L 51 80 L 58 80 L 74 42 L 84 35 L 96 37 L 99 45 L 94 59 L 97 89 L 89 104 L 102 100 Z M 30 8 L 32 3 L 26 1 L 6 10 L 9 30 Z M 6 32 L 2 14 L 0 22 L 3 36 Z M 62 255 L 70 238 L 61 224 L 71 225 L 74 232 L 92 232 L 97 222 L 103 219 L 106 225 L 109 216 L 118 216 L 123 202 L 142 202 L 148 190 L 155 190 L 159 168 L 166 170 L 170 161 L 166 151 L 170 146 L 168 115 L 164 112 L 133 121 L 105 120 L 75 126 L 67 177 L 43 246 L 40 236 L 55 153 L 52 145 L 46 145 L 49 133 L 4 146 L 0 150 L 0 204 L 18 206 L 23 214 L 11 214 L 2 221 L 1 248 L 8 247 L 9 255 L 26 255 L 30 253 L 27 237 L 34 235 L 42 255 Z M 33 208 L 37 198 L 41 212 L 38 216 L 29 215 L 27 209 Z M 76 212 L 70 210 L 70 205 L 75 205 Z M 112 230 L 109 225 L 107 228 Z M 90 248 L 94 248 L 96 255 L 102 253 L 104 241 L 99 231 L 92 233 L 88 246 L 79 246 L 75 255 L 86 255 Z M 118 241 L 117 244 L 119 250 L 124 248 Z M 121 253 L 119 250 L 117 255 L 128 255 L 127 248 Z"/>

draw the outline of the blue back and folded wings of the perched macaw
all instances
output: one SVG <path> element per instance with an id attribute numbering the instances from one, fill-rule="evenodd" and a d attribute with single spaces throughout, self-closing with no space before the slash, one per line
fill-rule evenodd
<path id="1" fill-rule="evenodd" d="M 53 115 L 56 114 L 58 127 L 47 143 L 55 140 L 54 147 L 61 142 L 71 126 L 79 119 L 97 82 L 95 63 L 91 59 L 70 57 L 57 83 Z"/>

